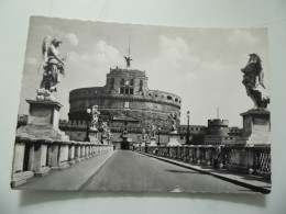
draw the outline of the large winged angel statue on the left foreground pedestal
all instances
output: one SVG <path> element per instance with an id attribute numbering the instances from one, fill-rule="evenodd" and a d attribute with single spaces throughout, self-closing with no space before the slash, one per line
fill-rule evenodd
<path id="1" fill-rule="evenodd" d="M 59 74 L 65 74 L 65 57 L 59 53 L 59 45 L 63 43 L 59 38 L 46 36 L 42 45 L 42 65 L 43 79 L 37 90 L 38 100 L 51 100 L 51 93 L 57 91 L 56 85 L 59 83 Z"/>

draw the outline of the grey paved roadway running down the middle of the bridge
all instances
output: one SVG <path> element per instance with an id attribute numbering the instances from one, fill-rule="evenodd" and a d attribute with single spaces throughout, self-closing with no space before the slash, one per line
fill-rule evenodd
<path id="1" fill-rule="evenodd" d="M 81 190 L 253 192 L 250 189 L 131 150 L 118 150 Z"/>

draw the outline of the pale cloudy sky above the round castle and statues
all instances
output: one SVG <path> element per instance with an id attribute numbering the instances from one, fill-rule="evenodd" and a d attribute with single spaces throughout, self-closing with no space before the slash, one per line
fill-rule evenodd
<path id="1" fill-rule="evenodd" d="M 262 59 L 264 82 L 270 91 L 268 40 L 266 29 L 191 29 L 134 25 L 32 16 L 30 20 L 19 114 L 28 114 L 26 99 L 35 99 L 43 74 L 43 38 L 64 43 L 66 75 L 54 97 L 67 119 L 70 90 L 102 87 L 110 68 L 125 68 L 129 40 L 131 69 L 145 70 L 148 88 L 182 98 L 180 124 L 207 125 L 209 119 L 229 120 L 242 127 L 243 113 L 253 108 L 241 83 L 249 54 Z"/>

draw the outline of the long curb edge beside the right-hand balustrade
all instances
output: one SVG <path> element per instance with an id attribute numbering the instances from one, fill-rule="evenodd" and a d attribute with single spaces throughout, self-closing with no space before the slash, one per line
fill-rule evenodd
<path id="1" fill-rule="evenodd" d="M 238 184 L 238 185 L 241 185 L 241 187 L 244 187 L 244 188 L 249 188 L 251 190 L 254 190 L 256 192 L 260 192 L 260 193 L 263 193 L 263 194 L 268 194 L 271 193 L 271 190 L 270 189 L 266 189 L 266 188 L 262 188 L 262 187 L 258 187 L 258 185 L 254 185 L 254 184 L 251 184 L 251 183 L 246 183 L 246 182 L 242 182 L 242 181 L 238 181 L 235 179 L 232 179 L 232 178 L 228 178 L 226 176 L 221 176 L 221 174 L 217 174 L 217 173 L 212 173 L 212 172 L 209 172 L 209 171 L 205 171 L 202 169 L 197 169 L 197 168 L 194 168 L 191 166 L 186 166 L 186 165 L 183 165 L 180 162 L 177 162 L 177 161 L 174 161 L 174 160 L 170 160 L 170 159 L 166 159 L 166 158 L 162 158 L 162 157 L 158 157 L 158 156 L 154 156 L 154 155 L 151 155 L 151 154 L 145 154 L 145 153 L 141 153 L 141 151 L 138 151 L 142 155 L 145 155 L 145 156 L 148 156 L 148 157 L 152 157 L 152 158 L 156 158 L 158 160 L 162 160 L 162 161 L 165 161 L 165 162 L 168 162 L 168 164 L 172 164 L 172 165 L 176 165 L 176 166 L 179 166 L 179 167 L 184 167 L 184 168 L 187 168 L 187 169 L 191 169 L 194 171 L 198 171 L 200 173 L 205 173 L 205 174 L 210 174 L 215 178 L 218 178 L 218 179 L 221 179 L 221 180 L 224 180 L 224 181 L 228 181 L 228 182 L 231 182 L 231 183 L 234 183 L 234 184 Z"/>

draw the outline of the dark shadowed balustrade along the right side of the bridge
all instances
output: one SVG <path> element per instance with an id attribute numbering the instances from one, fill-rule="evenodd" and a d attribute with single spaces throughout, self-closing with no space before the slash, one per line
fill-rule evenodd
<path id="1" fill-rule="evenodd" d="M 270 145 L 144 146 L 138 151 L 271 179 Z"/>

